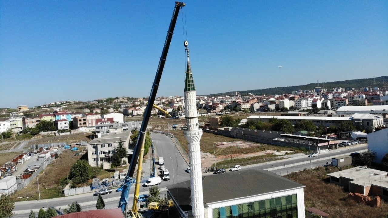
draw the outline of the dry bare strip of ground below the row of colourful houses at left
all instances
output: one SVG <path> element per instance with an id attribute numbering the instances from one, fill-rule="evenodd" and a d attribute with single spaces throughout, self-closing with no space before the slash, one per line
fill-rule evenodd
<path id="1" fill-rule="evenodd" d="M 88 136 L 91 135 L 90 133 L 73 133 L 70 135 L 59 135 L 59 136 L 53 136 L 53 135 L 46 135 L 42 138 L 39 138 L 37 140 L 33 140 L 28 142 L 29 145 L 36 145 L 36 144 L 47 144 L 47 143 L 55 143 L 55 142 L 67 142 L 67 143 L 74 143 L 74 142 L 81 142 L 81 141 L 87 141 L 90 142 L 91 139 L 88 138 Z"/>

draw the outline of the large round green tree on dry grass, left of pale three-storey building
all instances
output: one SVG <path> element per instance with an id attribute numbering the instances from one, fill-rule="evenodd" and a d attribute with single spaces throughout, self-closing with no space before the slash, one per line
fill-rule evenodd
<path id="1" fill-rule="evenodd" d="M 89 165 L 87 160 L 78 160 L 71 166 L 69 178 L 73 181 L 73 185 L 86 182 L 88 179 L 93 178 L 92 166 Z"/>

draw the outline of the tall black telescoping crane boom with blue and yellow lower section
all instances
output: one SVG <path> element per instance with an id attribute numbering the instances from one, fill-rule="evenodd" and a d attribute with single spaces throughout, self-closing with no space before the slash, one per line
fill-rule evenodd
<path id="1" fill-rule="evenodd" d="M 152 105 L 154 104 L 156 93 L 158 91 L 163 68 L 165 67 L 168 48 L 170 48 L 170 43 L 171 43 L 172 35 L 174 33 L 175 24 L 177 23 L 179 10 L 181 7 L 184 7 L 184 6 L 185 6 L 185 3 L 183 2 L 175 2 L 175 7 L 172 14 L 171 22 L 170 22 L 170 27 L 168 28 L 168 31 L 167 31 L 166 41 L 163 46 L 163 51 L 159 60 L 158 69 L 156 70 L 155 80 L 154 80 L 154 83 L 152 83 L 148 104 L 144 112 L 143 122 L 139 130 L 137 143 L 133 150 L 133 155 L 132 155 L 131 163 L 129 165 L 128 173 L 125 176 L 125 180 L 123 184 L 123 192 L 121 192 L 121 197 L 120 197 L 120 202 L 118 207 L 121 208 L 121 211 L 123 213 L 125 213 L 128 207 L 128 194 L 131 187 L 131 182 L 133 181 L 133 174 L 135 172 L 136 164 L 139 163 L 139 166 L 137 168 L 137 174 L 136 174 L 135 193 L 133 197 L 133 206 L 132 206 L 132 214 L 135 215 L 136 217 L 139 216 L 139 214 L 137 213 L 137 200 L 139 199 L 140 178 L 142 173 L 142 163 L 143 163 L 143 155 L 144 155 L 145 132 L 147 130 L 149 118 L 151 116 Z"/>

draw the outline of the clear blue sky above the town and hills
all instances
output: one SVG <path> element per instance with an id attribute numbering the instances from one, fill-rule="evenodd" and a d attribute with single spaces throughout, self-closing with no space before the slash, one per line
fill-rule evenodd
<path id="1" fill-rule="evenodd" d="M 388 1 L 185 3 L 158 97 L 183 95 L 186 35 L 197 95 L 388 75 Z M 173 7 L 0 1 L 0 107 L 148 97 Z"/>

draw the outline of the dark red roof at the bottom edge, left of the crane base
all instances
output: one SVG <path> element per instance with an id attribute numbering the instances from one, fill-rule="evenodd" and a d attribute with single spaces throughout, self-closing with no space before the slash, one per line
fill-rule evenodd
<path id="1" fill-rule="evenodd" d="M 101 210 L 90 210 L 81 211 L 77 213 L 69 213 L 60 216 L 54 216 L 57 218 L 124 218 L 121 213 L 121 208 L 113 209 L 101 209 Z"/>

